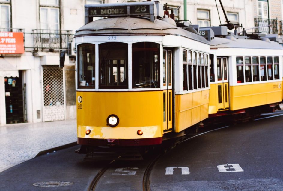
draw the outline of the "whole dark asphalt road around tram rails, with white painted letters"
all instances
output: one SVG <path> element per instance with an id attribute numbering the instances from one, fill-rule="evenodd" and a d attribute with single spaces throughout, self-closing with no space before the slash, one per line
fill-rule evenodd
<path id="1" fill-rule="evenodd" d="M 191 138 L 162 155 L 150 174 L 151 191 L 282 191 L 283 116 L 214 130 Z M 0 173 L 1 191 L 87 190 L 110 161 L 83 161 L 76 147 L 31 159 Z M 96 190 L 142 190 L 150 160 L 117 161 Z M 37 182 L 66 181 L 63 187 Z"/>

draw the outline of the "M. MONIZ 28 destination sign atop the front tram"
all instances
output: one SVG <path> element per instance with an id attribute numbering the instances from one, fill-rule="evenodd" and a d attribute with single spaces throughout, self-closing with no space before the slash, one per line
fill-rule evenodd
<path id="1" fill-rule="evenodd" d="M 92 17 L 111 16 L 149 16 L 150 20 L 154 22 L 156 4 L 153 1 L 148 1 L 139 3 L 85 5 L 85 24 L 91 22 Z"/>

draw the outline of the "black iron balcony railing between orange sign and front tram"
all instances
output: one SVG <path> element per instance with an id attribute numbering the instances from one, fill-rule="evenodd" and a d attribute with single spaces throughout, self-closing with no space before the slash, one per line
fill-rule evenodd
<path id="1" fill-rule="evenodd" d="M 32 30 L 32 34 L 34 52 L 58 52 L 62 48 L 71 49 L 73 35 L 70 30 L 34 29 Z"/>

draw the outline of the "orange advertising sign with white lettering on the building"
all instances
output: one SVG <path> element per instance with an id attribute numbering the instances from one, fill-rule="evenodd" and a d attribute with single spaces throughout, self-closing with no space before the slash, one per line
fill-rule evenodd
<path id="1" fill-rule="evenodd" d="M 0 32 L 0 54 L 23 54 L 24 33 Z"/>

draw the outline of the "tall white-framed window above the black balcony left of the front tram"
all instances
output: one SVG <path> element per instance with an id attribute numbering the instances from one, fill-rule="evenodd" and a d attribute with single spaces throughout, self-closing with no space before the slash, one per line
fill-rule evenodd
<path id="1" fill-rule="evenodd" d="M 59 30 L 58 0 L 40 0 L 40 29 Z"/>

